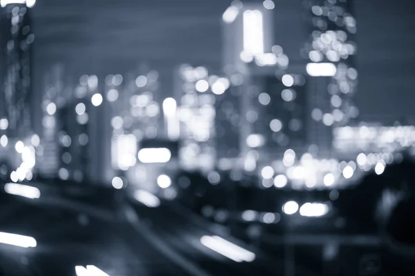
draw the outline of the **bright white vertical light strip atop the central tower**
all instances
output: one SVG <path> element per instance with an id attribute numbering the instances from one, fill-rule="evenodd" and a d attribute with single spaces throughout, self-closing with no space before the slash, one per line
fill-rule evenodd
<path id="1" fill-rule="evenodd" d="M 259 10 L 243 12 L 243 50 L 253 56 L 264 54 L 264 22 Z"/>

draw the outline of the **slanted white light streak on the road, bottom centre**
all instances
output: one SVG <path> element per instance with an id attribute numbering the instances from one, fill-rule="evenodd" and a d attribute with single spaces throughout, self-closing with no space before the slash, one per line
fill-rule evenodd
<path id="1" fill-rule="evenodd" d="M 201 244 L 234 262 L 252 262 L 255 254 L 218 236 L 203 236 Z"/>

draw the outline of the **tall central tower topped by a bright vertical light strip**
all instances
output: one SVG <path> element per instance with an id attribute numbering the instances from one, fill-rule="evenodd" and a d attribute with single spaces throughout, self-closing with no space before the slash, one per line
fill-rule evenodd
<path id="1" fill-rule="evenodd" d="M 291 66 L 282 46 L 274 45 L 281 28 L 274 8 L 273 1 L 234 1 L 223 13 L 223 69 L 240 86 L 233 104 L 239 105 L 239 150 L 248 170 L 256 167 L 248 164 L 281 159 L 287 149 L 305 152 L 308 143 L 305 62 Z"/>

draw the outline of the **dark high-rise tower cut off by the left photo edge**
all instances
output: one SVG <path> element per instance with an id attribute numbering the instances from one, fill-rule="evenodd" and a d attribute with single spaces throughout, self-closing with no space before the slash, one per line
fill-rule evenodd
<path id="1" fill-rule="evenodd" d="M 0 116 L 8 121 L 10 137 L 28 135 L 31 121 L 30 8 L 35 0 L 1 0 L 0 8 Z"/>

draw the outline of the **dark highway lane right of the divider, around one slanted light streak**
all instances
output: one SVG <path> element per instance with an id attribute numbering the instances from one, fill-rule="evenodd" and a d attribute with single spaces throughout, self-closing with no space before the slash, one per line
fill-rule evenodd
<path id="1" fill-rule="evenodd" d="M 174 202 L 165 202 L 158 208 L 147 208 L 133 204 L 134 210 L 152 233 L 163 237 L 172 248 L 181 255 L 198 264 L 211 275 L 284 275 L 283 250 L 278 254 L 268 254 L 258 250 L 257 246 L 234 239 L 225 228 L 215 227 L 212 223 L 199 218 Z M 205 235 L 219 235 L 233 244 L 255 253 L 253 262 L 234 262 L 201 244 Z M 320 275 L 310 268 L 297 264 L 299 275 Z M 226 272 L 223 274 L 223 272 Z"/>

